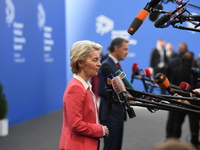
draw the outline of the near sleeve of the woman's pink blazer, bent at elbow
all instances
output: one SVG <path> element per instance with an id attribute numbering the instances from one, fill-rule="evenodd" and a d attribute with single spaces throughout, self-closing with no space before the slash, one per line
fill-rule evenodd
<path id="1" fill-rule="evenodd" d="M 64 109 L 69 128 L 77 134 L 100 138 L 103 136 L 102 125 L 85 121 L 84 105 L 86 92 L 80 86 L 74 85 L 64 95 Z"/>

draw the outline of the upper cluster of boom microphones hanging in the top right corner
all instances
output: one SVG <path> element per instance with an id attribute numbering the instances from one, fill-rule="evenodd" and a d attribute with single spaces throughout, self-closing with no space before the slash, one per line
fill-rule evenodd
<path id="1" fill-rule="evenodd" d="M 146 6 L 136 15 L 131 25 L 128 28 L 128 33 L 133 35 L 143 24 L 146 17 L 149 15 L 149 19 L 154 22 L 156 28 L 167 28 L 173 26 L 174 28 L 190 30 L 200 32 L 197 27 L 200 26 L 200 15 L 192 15 L 185 6 L 187 2 L 182 0 L 176 0 L 178 6 L 173 11 L 164 11 L 163 6 L 159 4 L 162 0 L 151 0 Z M 160 18 L 159 15 L 163 13 Z M 194 28 L 176 25 L 177 23 L 182 24 L 185 21 L 189 21 L 194 24 Z"/>

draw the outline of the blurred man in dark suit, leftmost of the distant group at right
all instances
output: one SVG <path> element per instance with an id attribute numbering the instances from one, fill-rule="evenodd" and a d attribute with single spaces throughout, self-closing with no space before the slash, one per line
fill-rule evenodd
<path id="1" fill-rule="evenodd" d="M 165 40 L 158 39 L 156 41 L 156 48 L 152 50 L 150 56 L 150 67 L 153 69 L 154 75 L 157 73 L 166 74 L 166 64 Z M 161 89 L 161 94 L 166 94 L 166 90 Z"/>

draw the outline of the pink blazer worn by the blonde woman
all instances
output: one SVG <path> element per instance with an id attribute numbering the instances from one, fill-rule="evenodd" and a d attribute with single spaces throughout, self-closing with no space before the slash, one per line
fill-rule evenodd
<path id="1" fill-rule="evenodd" d="M 72 78 L 63 97 L 63 125 L 59 149 L 97 150 L 103 136 L 102 125 L 96 124 L 95 105 L 89 89 Z"/>

